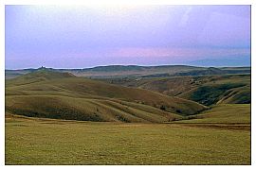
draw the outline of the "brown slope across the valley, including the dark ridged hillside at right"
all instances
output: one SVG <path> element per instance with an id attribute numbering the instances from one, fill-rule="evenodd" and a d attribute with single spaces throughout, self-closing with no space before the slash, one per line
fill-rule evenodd
<path id="1" fill-rule="evenodd" d="M 250 103 L 250 75 L 105 78 L 112 84 L 136 87 L 203 105 Z"/>

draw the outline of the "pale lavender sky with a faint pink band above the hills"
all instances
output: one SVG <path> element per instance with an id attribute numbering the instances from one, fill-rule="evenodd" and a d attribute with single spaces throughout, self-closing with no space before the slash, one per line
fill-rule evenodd
<path id="1" fill-rule="evenodd" d="M 249 66 L 250 6 L 6 6 L 6 69 Z"/>

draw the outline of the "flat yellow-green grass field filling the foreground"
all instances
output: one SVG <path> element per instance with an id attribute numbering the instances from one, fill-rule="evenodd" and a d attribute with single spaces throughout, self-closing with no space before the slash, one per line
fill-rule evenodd
<path id="1" fill-rule="evenodd" d="M 250 164 L 250 132 L 8 114 L 6 164 Z"/>

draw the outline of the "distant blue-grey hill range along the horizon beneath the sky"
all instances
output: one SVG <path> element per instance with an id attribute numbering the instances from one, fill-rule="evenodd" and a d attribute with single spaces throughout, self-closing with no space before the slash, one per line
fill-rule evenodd
<path id="1" fill-rule="evenodd" d="M 41 69 L 41 68 L 40 68 Z M 38 69 L 6 70 L 6 78 L 13 78 Z M 166 77 L 166 76 L 202 76 L 202 75 L 227 75 L 249 74 L 250 67 L 196 67 L 189 65 L 108 65 L 84 69 L 49 69 L 58 72 L 68 72 L 75 76 L 93 78 L 106 77 Z"/>

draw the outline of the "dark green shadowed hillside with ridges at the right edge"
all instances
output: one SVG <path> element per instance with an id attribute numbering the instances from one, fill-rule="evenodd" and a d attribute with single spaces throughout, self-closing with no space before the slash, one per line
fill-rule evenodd
<path id="1" fill-rule="evenodd" d="M 179 97 L 210 106 L 212 104 L 250 103 L 250 76 L 215 76 Z"/>

